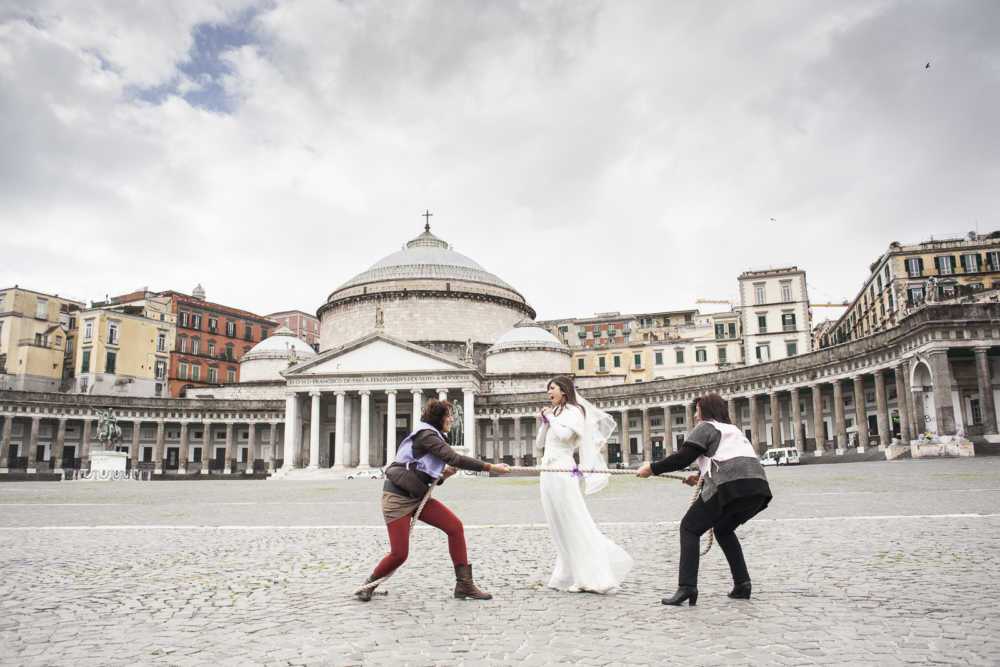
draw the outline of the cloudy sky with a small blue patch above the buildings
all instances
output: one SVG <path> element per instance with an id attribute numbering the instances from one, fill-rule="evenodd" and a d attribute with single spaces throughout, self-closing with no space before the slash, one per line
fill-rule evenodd
<path id="1" fill-rule="evenodd" d="M 430 209 L 540 318 L 785 264 L 852 297 L 892 240 L 1000 229 L 997 35 L 992 0 L 0 0 L 0 287 L 315 312 Z"/>

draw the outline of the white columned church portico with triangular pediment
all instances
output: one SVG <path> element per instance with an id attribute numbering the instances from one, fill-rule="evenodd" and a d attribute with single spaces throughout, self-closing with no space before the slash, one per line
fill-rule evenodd
<path id="1" fill-rule="evenodd" d="M 447 399 L 462 413 L 462 442 L 475 451 L 481 376 L 454 358 L 382 333 L 328 350 L 284 374 L 284 468 L 367 468 L 391 462 L 424 403 Z"/>

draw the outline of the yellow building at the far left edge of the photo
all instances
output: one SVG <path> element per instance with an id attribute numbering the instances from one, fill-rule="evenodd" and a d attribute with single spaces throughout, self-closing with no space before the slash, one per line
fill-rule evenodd
<path id="1" fill-rule="evenodd" d="M 64 389 L 83 305 L 18 286 L 0 290 L 0 388 Z"/>

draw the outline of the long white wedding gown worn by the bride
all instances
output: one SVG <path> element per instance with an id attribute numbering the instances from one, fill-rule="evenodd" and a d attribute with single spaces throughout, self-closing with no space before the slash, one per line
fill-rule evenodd
<path id="1" fill-rule="evenodd" d="M 544 444 L 542 467 L 572 468 L 573 452 L 584 428 L 579 408 L 566 406 L 542 422 L 535 450 Z M 632 569 L 632 557 L 605 537 L 583 500 L 581 481 L 570 473 L 541 474 L 542 508 L 556 547 L 556 565 L 549 587 L 561 591 L 607 593 Z"/>

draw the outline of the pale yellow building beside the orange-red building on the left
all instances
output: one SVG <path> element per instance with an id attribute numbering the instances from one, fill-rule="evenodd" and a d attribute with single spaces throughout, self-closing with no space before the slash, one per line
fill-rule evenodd
<path id="1" fill-rule="evenodd" d="M 74 391 L 166 396 L 167 369 L 176 335 L 172 317 L 167 315 L 155 304 L 81 312 Z"/>

